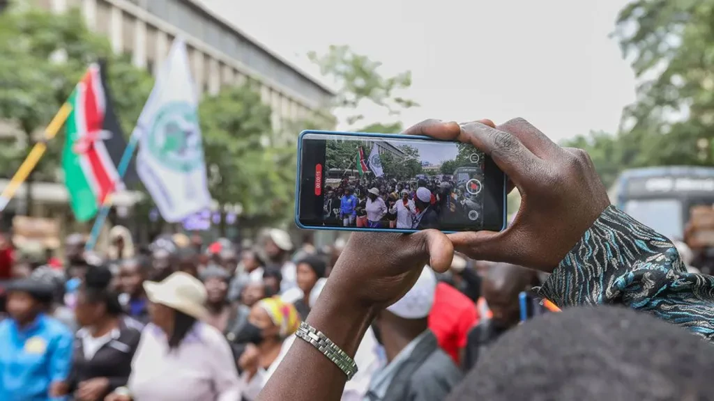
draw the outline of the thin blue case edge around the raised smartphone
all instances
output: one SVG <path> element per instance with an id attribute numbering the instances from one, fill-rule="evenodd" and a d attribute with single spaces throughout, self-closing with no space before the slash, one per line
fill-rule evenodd
<path id="1" fill-rule="evenodd" d="M 320 131 L 320 130 L 305 130 L 298 136 L 298 171 L 296 173 L 295 179 L 295 225 L 303 230 L 330 230 L 330 231 L 373 231 L 376 233 L 418 233 L 420 230 L 403 230 L 400 228 L 367 228 L 367 227 L 330 227 L 327 225 L 303 225 L 300 223 L 300 173 L 302 171 L 302 148 L 303 148 L 303 136 L 308 133 L 320 133 L 328 134 L 332 136 L 371 136 L 373 138 L 402 138 L 402 139 L 421 139 L 426 141 L 441 141 L 441 139 L 434 139 L 430 136 L 421 135 L 402 135 L 401 133 L 369 133 L 369 132 L 342 132 L 342 131 Z M 449 142 L 449 141 L 443 141 Z M 453 141 L 452 141 L 453 142 Z M 506 184 L 508 177 L 503 174 L 503 227 L 501 230 L 506 229 L 508 225 L 507 217 L 508 210 L 506 210 Z M 443 231 L 443 233 L 456 233 L 457 231 Z"/>

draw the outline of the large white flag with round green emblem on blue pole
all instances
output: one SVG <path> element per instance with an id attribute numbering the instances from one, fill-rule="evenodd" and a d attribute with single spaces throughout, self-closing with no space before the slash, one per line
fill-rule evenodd
<path id="1" fill-rule="evenodd" d="M 174 223 L 211 205 L 198 99 L 183 41 L 176 39 L 141 111 L 136 171 L 164 220 Z"/>

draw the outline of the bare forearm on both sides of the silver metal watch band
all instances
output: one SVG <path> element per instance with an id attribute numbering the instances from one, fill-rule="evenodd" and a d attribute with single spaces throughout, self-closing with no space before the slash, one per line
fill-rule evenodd
<path id="1" fill-rule="evenodd" d="M 373 319 L 373 310 L 356 305 L 326 287 L 306 323 L 320 330 L 347 355 L 354 357 Z M 327 294 L 325 294 L 327 293 Z M 258 400 L 340 400 L 346 375 L 310 343 L 297 338 Z"/>

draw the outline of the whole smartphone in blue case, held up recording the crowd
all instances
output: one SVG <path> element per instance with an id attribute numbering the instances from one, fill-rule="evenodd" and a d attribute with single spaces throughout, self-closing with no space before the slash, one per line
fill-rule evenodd
<path id="1" fill-rule="evenodd" d="M 453 233 L 506 224 L 506 176 L 466 143 L 303 131 L 297 175 L 300 228 Z"/>

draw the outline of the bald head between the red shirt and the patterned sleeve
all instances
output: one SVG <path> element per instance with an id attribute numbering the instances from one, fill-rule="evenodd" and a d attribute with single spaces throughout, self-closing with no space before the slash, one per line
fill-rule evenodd
<path id="1" fill-rule="evenodd" d="M 512 328 L 518 324 L 518 294 L 526 290 L 532 279 L 532 270 L 508 263 L 498 263 L 488 270 L 488 275 L 483 279 L 482 291 L 493 313 L 494 325 L 498 328 Z"/>

